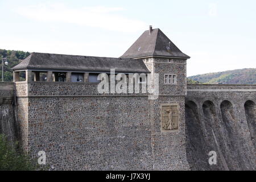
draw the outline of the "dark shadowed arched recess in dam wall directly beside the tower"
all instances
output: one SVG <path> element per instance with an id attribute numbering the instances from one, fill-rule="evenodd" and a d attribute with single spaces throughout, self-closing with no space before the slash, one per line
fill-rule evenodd
<path id="1" fill-rule="evenodd" d="M 186 151 L 189 167 L 192 170 L 209 169 L 207 164 L 206 142 L 200 124 L 199 110 L 195 102 L 185 102 Z"/>

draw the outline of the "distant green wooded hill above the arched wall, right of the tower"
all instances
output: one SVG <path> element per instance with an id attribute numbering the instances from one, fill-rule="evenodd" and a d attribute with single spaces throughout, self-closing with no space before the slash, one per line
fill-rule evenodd
<path id="1" fill-rule="evenodd" d="M 188 77 L 201 84 L 256 84 L 256 68 L 234 69 L 232 71 L 207 73 Z M 193 82 L 191 82 L 193 84 Z M 195 82 L 194 82 L 195 83 Z"/>

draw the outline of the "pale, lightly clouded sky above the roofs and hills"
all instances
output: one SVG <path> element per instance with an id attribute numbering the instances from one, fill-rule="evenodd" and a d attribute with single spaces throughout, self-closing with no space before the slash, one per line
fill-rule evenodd
<path id="1" fill-rule="evenodd" d="M 119 57 L 160 28 L 187 75 L 256 68 L 256 1 L 0 0 L 0 49 Z"/>

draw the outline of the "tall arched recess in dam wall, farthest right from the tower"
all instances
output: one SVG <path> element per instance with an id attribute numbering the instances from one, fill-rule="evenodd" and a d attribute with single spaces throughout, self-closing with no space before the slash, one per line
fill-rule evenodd
<path id="1" fill-rule="evenodd" d="M 255 130 L 256 130 L 256 105 L 255 102 L 251 100 L 247 100 L 245 102 L 245 115 L 247 125 L 250 131 L 251 141 L 254 144 L 254 148 L 256 150 L 256 139 L 255 139 Z"/>

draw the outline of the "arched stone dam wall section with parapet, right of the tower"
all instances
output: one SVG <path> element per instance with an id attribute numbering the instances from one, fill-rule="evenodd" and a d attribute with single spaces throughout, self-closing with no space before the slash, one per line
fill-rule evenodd
<path id="1" fill-rule="evenodd" d="M 255 170 L 256 85 L 188 85 L 187 158 L 192 169 Z M 209 166 L 209 151 L 217 165 Z"/>

